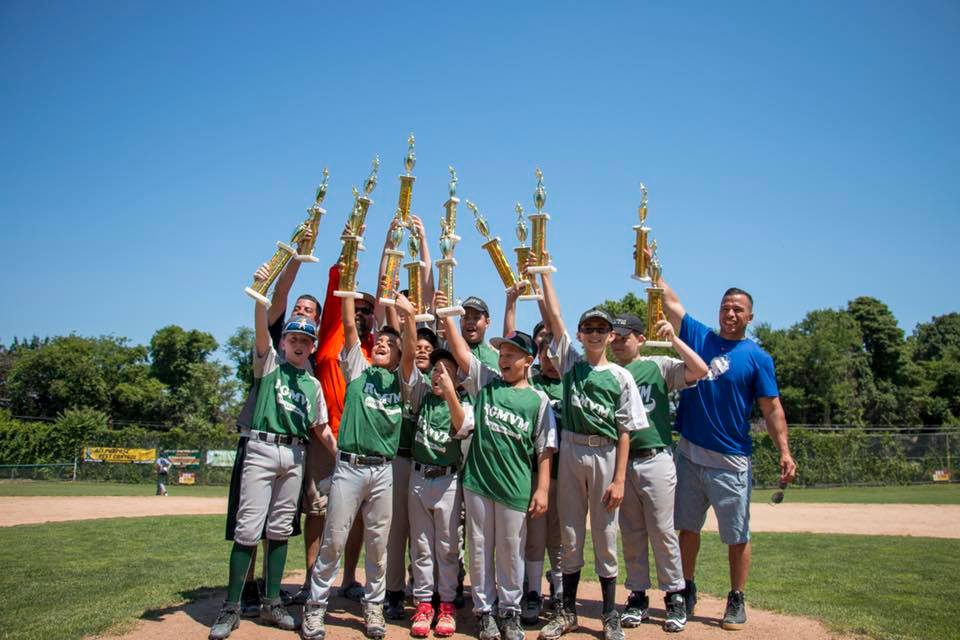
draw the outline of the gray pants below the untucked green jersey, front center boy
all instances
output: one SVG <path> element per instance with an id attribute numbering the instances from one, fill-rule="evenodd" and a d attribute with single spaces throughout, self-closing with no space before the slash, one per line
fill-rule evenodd
<path id="1" fill-rule="evenodd" d="M 467 507 L 473 612 L 491 613 L 499 598 L 500 613 L 520 613 L 526 512 L 510 509 L 469 489 L 463 490 L 463 502 Z"/>

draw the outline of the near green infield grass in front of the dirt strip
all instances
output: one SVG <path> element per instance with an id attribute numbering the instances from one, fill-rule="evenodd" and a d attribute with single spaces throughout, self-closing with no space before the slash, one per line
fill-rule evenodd
<path id="1" fill-rule="evenodd" d="M 82 638 L 222 587 L 222 528 L 221 516 L 181 516 L 0 529 L 3 637 Z M 595 579 L 590 555 L 584 576 Z M 299 553 L 290 558 L 299 569 Z M 716 535 L 704 535 L 700 558 L 701 591 L 725 595 Z M 877 638 L 947 638 L 960 617 L 950 595 L 958 572 L 960 540 L 757 534 L 747 601 Z"/>

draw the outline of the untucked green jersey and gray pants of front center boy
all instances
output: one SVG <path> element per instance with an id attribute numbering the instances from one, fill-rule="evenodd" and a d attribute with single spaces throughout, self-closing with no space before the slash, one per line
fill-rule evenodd
<path id="1" fill-rule="evenodd" d="M 556 450 L 553 410 L 543 391 L 511 386 L 476 357 L 464 386 L 475 422 L 463 470 L 474 613 L 491 612 L 499 598 L 500 613 L 519 614 L 531 468 Z"/>

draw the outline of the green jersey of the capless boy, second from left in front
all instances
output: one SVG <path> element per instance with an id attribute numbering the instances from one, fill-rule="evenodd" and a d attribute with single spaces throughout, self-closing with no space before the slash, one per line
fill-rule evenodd
<path id="1" fill-rule="evenodd" d="M 347 393 L 337 436 L 341 451 L 393 457 L 400 446 L 403 401 L 396 371 L 367 362 L 357 342 L 344 361 Z"/>

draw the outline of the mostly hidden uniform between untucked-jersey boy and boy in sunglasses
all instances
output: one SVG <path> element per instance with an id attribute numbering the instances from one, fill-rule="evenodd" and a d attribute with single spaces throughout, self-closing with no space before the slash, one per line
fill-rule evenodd
<path id="1" fill-rule="evenodd" d="M 533 386 L 540 389 L 550 398 L 554 419 L 557 423 L 557 437 L 561 437 L 563 423 L 563 381 L 547 378 L 540 373 L 533 378 Z M 550 498 L 547 503 L 547 513 L 539 518 L 527 517 L 527 542 L 524 548 L 526 576 L 528 589 L 543 593 L 543 555 L 546 552 L 550 558 L 550 573 L 547 580 L 553 585 L 554 592 L 562 590 L 560 559 L 563 555 L 563 546 L 560 542 L 560 511 L 557 506 L 557 471 L 559 468 L 559 454 L 553 455 L 550 464 Z M 537 465 L 533 465 L 536 477 Z"/>

